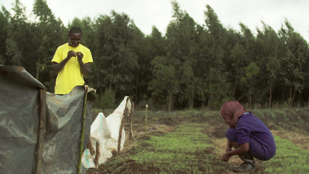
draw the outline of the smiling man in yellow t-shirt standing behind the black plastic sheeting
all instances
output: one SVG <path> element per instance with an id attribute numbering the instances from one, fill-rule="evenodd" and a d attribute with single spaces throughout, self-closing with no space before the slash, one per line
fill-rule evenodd
<path id="1" fill-rule="evenodd" d="M 57 48 L 52 59 L 52 73 L 57 74 L 55 94 L 66 94 L 77 85 L 84 85 L 84 78 L 91 74 L 93 62 L 91 52 L 81 45 L 82 29 L 72 27 L 68 34 L 69 43 Z"/>

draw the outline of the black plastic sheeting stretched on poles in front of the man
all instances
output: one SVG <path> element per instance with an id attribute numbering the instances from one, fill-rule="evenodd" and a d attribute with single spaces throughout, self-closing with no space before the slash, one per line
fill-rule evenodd
<path id="1" fill-rule="evenodd" d="M 0 65 L 0 173 L 32 174 L 39 124 L 39 89 L 46 89 L 23 67 Z M 44 174 L 77 172 L 85 88 L 63 96 L 47 92 Z M 95 97 L 87 95 L 86 149 Z M 85 168 L 82 164 L 82 173 Z"/>

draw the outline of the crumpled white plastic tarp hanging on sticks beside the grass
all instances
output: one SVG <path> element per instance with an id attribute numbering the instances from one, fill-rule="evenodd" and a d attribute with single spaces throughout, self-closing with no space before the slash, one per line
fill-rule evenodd
<path id="1" fill-rule="evenodd" d="M 100 156 L 99 165 L 106 162 L 108 158 L 112 157 L 112 151 L 118 150 L 119 130 L 121 126 L 121 120 L 123 112 L 126 108 L 131 110 L 130 99 L 126 105 L 127 96 L 123 99 L 116 110 L 108 117 L 104 117 L 103 113 L 99 113 L 95 118 L 95 121 L 91 124 L 90 139 L 94 149 L 96 148 L 96 142 L 100 143 Z M 122 129 L 121 134 L 121 148 L 125 143 L 125 130 Z M 82 163 L 85 168 L 95 168 L 94 156 L 90 155 L 89 149 L 86 149 L 83 153 Z"/>

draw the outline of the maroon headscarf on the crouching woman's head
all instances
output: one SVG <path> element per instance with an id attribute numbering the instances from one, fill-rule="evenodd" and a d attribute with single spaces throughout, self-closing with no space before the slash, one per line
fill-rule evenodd
<path id="1" fill-rule="evenodd" d="M 235 127 L 238 118 L 246 113 L 247 111 L 243 109 L 243 106 L 237 101 L 226 101 L 221 107 L 221 117 L 223 119 L 232 120 L 230 127 Z"/>

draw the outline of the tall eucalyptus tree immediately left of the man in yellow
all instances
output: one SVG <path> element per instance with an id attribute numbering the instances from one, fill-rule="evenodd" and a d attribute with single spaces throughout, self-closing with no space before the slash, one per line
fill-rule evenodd
<path id="1" fill-rule="evenodd" d="M 33 13 L 38 18 L 35 25 L 33 58 L 36 61 L 36 79 L 40 80 L 49 91 L 53 91 L 55 76 L 51 73 L 50 62 L 57 47 L 66 42 L 68 29 L 60 19 L 56 19 L 46 0 L 35 0 Z M 33 65 L 32 65 L 33 66 Z M 40 75 L 41 74 L 41 75 Z"/>

